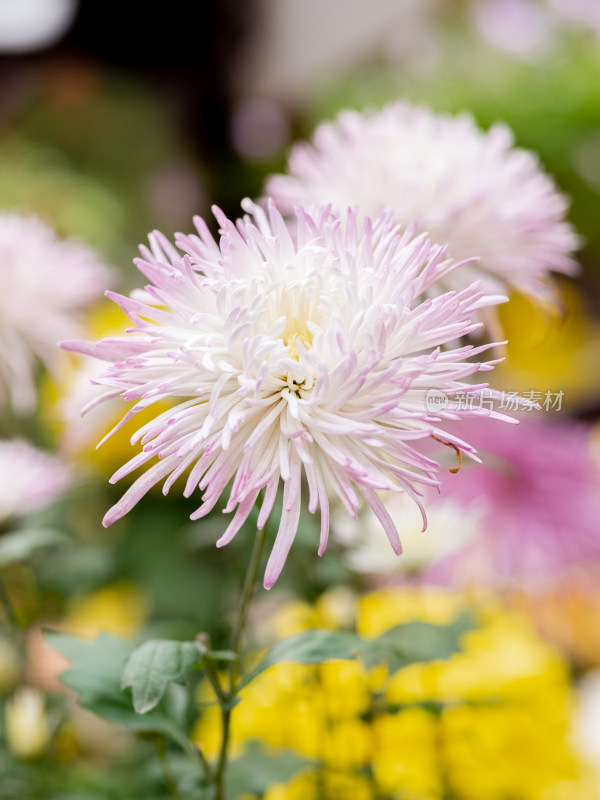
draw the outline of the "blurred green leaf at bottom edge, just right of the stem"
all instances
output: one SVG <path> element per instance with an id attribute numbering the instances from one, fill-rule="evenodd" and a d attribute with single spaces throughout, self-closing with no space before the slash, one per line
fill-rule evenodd
<path id="1" fill-rule="evenodd" d="M 252 742 L 243 756 L 230 762 L 227 777 L 227 797 L 255 794 L 259 797 L 274 783 L 287 783 L 297 772 L 314 765 L 289 750 L 265 751 Z"/>

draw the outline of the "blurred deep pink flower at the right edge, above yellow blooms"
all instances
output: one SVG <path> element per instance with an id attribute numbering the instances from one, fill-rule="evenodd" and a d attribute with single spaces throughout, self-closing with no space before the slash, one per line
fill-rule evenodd
<path id="1" fill-rule="evenodd" d="M 479 533 L 431 576 L 533 589 L 551 585 L 571 567 L 597 563 L 600 468 L 588 426 L 532 418 L 521 419 L 516 430 L 478 422 L 465 428 L 484 463 L 442 486 L 466 514 L 477 509 Z"/>

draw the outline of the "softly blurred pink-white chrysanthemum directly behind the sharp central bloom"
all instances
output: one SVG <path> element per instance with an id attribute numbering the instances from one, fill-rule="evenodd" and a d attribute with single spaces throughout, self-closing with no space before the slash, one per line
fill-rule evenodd
<path id="1" fill-rule="evenodd" d="M 446 288 L 480 279 L 485 291 L 547 299 L 550 271 L 575 271 L 578 239 L 565 222 L 565 198 L 537 158 L 513 143 L 505 125 L 485 132 L 466 114 L 408 103 L 344 111 L 295 145 L 288 174 L 271 176 L 266 189 L 286 213 L 312 203 L 357 205 L 370 216 L 390 207 L 397 222 L 414 223 L 452 258 L 479 257 L 450 273 Z"/>

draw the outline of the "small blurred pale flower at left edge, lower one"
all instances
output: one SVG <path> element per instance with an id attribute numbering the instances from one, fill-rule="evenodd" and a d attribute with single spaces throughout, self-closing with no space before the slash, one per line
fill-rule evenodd
<path id="1" fill-rule="evenodd" d="M 25 439 L 0 439 L 0 523 L 40 511 L 65 492 L 70 470 Z"/>

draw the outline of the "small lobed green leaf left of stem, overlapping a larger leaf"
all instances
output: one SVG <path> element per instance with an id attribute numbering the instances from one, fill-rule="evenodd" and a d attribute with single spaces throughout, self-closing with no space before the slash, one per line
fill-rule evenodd
<path id="1" fill-rule="evenodd" d="M 169 683 L 182 682 L 201 657 L 194 642 L 152 639 L 127 659 L 121 687 L 131 688 L 134 709 L 146 714 L 159 703 Z"/>

